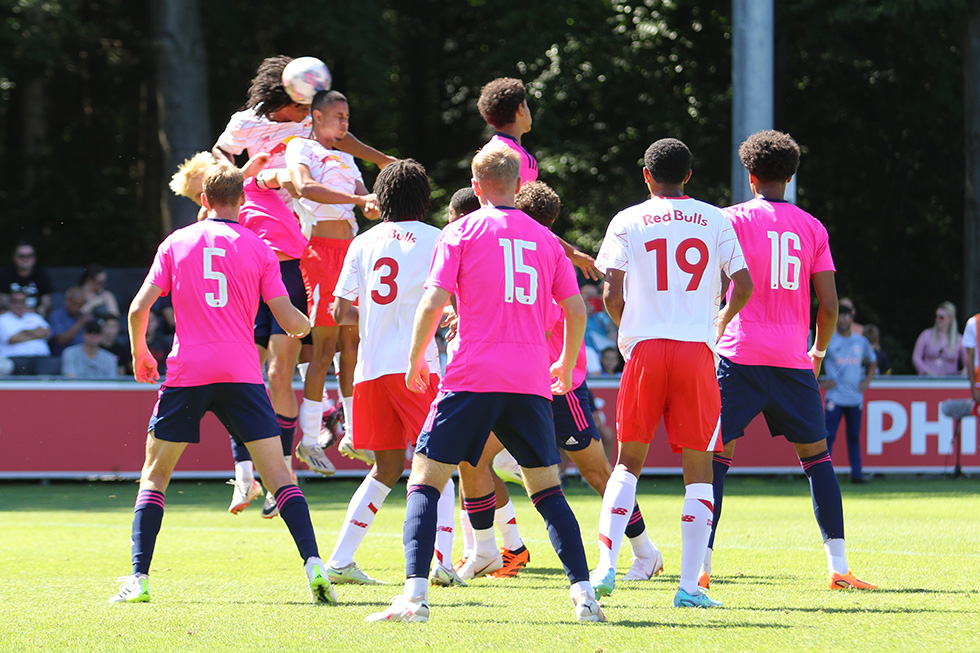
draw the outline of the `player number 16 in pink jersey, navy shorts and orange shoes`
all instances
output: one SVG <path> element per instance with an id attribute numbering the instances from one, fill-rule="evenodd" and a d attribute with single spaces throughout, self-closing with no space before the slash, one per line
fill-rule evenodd
<path id="1" fill-rule="evenodd" d="M 749 171 L 755 198 L 725 213 L 742 244 L 756 292 L 718 342 L 725 449 L 714 458 L 714 525 L 699 583 L 702 587 L 711 583 L 711 554 L 735 442 L 762 413 L 772 436 L 785 436 L 793 444 L 810 481 L 830 587 L 875 589 L 847 565 L 840 485 L 827 451 L 816 380 L 837 326 L 837 287 L 827 230 L 783 199 L 800 163 L 800 148 L 788 134 L 758 132 L 742 143 L 738 154 Z M 811 282 L 820 307 L 816 338 L 807 353 Z"/>

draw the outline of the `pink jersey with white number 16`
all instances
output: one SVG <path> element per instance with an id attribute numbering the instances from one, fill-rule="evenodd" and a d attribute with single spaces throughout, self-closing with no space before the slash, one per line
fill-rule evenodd
<path id="1" fill-rule="evenodd" d="M 809 369 L 810 277 L 834 270 L 827 230 L 789 202 L 753 199 L 725 213 L 754 290 L 718 341 L 718 353 L 742 365 Z"/>

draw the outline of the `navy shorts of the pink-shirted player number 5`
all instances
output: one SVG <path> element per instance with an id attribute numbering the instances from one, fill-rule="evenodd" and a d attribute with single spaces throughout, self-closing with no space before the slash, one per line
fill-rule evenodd
<path id="1" fill-rule="evenodd" d="M 201 441 L 201 420 L 208 411 L 241 442 L 279 437 L 276 413 L 261 383 L 163 386 L 148 430 L 167 442 L 197 443 Z"/>

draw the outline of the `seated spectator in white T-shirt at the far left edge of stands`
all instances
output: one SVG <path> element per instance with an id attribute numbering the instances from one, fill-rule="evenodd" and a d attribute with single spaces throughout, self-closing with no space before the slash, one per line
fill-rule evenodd
<path id="1" fill-rule="evenodd" d="M 14 374 L 57 374 L 48 348 L 48 323 L 27 308 L 27 293 L 10 293 L 10 311 L 0 315 L 0 356 L 14 363 Z"/>

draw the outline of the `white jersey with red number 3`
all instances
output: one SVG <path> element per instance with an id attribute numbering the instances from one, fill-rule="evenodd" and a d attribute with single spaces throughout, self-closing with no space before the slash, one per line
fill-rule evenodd
<path id="1" fill-rule="evenodd" d="M 424 222 L 382 222 L 351 242 L 334 296 L 357 300 L 361 342 L 354 383 L 408 371 L 415 309 L 439 233 Z M 430 372 L 439 372 L 435 341 L 425 360 Z"/>

